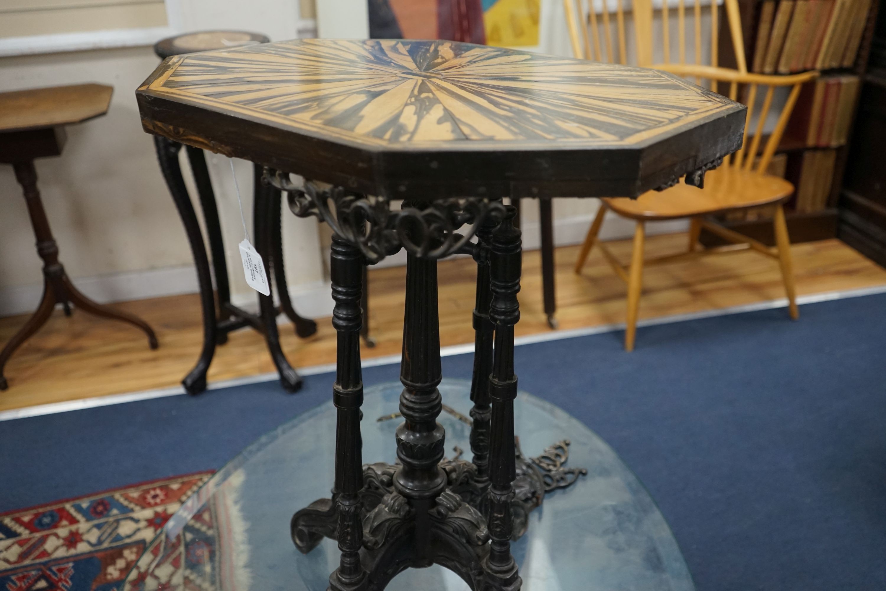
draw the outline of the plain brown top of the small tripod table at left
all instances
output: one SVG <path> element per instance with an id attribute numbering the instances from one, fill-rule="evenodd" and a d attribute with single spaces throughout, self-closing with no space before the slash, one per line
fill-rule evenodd
<path id="1" fill-rule="evenodd" d="M 74 84 L 0 93 L 0 133 L 55 128 L 107 113 L 113 87 Z"/>

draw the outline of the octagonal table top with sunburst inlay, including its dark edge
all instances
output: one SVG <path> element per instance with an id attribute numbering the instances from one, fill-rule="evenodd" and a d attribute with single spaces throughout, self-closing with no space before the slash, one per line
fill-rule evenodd
<path id="1" fill-rule="evenodd" d="M 745 108 L 672 74 L 447 41 L 167 58 L 144 128 L 391 198 L 635 196 L 734 152 Z"/>

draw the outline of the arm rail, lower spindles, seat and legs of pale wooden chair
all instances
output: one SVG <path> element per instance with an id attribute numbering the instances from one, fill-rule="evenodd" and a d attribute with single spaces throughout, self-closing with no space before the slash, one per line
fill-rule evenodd
<path id="1" fill-rule="evenodd" d="M 644 265 L 695 258 L 723 250 L 734 251 L 734 245 L 743 245 L 744 248 L 750 248 L 779 261 L 782 280 L 785 291 L 788 294 L 790 316 L 796 320 L 799 317 L 799 312 L 797 311 L 794 278 L 791 268 L 788 228 L 782 207 L 782 204 L 793 194 L 794 186 L 778 176 L 767 175 L 766 167 L 769 166 L 775 149 L 781 141 L 781 135 L 797 102 L 801 86 L 805 82 L 815 79 L 818 73 L 807 72 L 789 76 L 773 76 L 747 74 L 711 66 L 669 64 L 658 67 L 681 76 L 696 76 L 711 80 L 712 82 L 725 82 L 729 86 L 729 97 L 733 100 L 737 100 L 738 89 L 741 86 L 743 88 L 742 102 L 748 105 L 742 149 L 731 158 L 725 159 L 723 166 L 709 172 L 701 189 L 689 186 L 681 181 L 670 189 L 649 191 L 637 199 L 603 198 L 602 206 L 598 210 L 591 228 L 587 231 L 584 245 L 582 245 L 579 252 L 578 261 L 575 263 L 575 272 L 581 272 L 581 268 L 584 266 L 585 261 L 587 261 L 587 255 L 591 252 L 591 248 L 597 244 L 606 261 L 610 263 L 616 274 L 627 284 L 627 326 L 625 333 L 625 348 L 627 351 L 633 351 L 634 338 L 637 331 L 637 311 L 640 306 L 641 276 Z M 773 105 L 775 90 L 780 87 L 789 87 L 789 95 L 781 108 L 781 113 L 778 113 L 778 119 L 773 132 L 766 139 L 762 154 L 757 158 L 760 144 L 764 138 L 763 128 Z M 750 133 L 751 120 L 754 117 L 755 106 L 760 95 L 763 95 L 763 105 L 758 114 L 757 125 L 753 133 Z M 732 229 L 727 229 L 716 222 L 705 219 L 705 216 L 710 214 L 758 206 L 773 207 L 773 225 L 776 240 L 774 250 L 763 245 L 758 240 L 743 236 Z M 633 253 L 628 267 L 624 267 L 618 262 L 606 245 L 597 240 L 603 217 L 608 210 L 633 219 L 636 222 L 636 229 L 633 234 Z M 645 223 L 679 218 L 689 218 L 690 220 L 688 252 L 644 261 Z M 727 242 L 733 243 L 733 245 L 706 250 L 698 249 L 698 236 L 702 229 L 711 231 L 727 240 Z"/>

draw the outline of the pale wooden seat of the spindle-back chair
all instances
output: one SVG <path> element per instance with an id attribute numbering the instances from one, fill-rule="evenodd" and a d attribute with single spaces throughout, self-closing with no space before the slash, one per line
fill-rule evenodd
<path id="1" fill-rule="evenodd" d="M 681 179 L 670 189 L 649 191 L 636 199 L 603 201 L 617 214 L 635 220 L 671 220 L 780 203 L 793 192 L 794 185 L 778 176 L 726 166 L 705 175 L 703 189 Z"/>

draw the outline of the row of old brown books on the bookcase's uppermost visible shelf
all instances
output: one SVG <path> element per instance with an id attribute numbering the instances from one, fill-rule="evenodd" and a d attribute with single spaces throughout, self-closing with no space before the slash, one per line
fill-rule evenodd
<path id="1" fill-rule="evenodd" d="M 751 70 L 790 74 L 851 67 L 871 0 L 764 0 Z"/>

